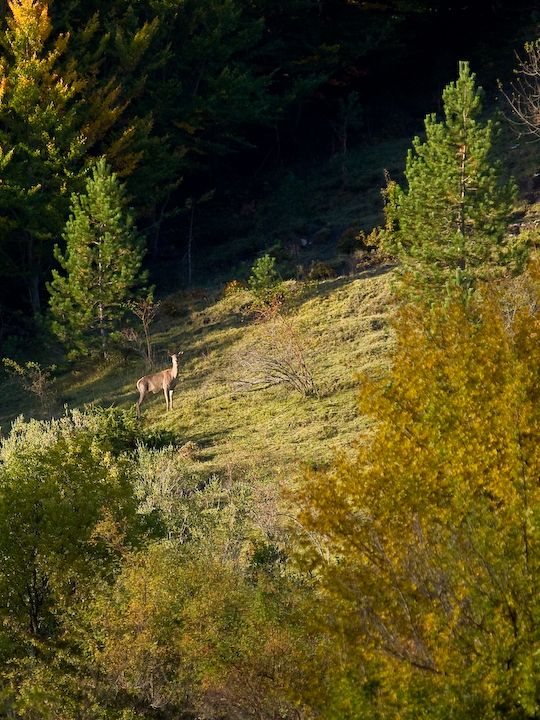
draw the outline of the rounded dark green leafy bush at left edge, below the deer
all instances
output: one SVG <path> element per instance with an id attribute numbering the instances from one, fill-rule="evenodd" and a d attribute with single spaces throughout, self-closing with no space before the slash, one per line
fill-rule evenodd
<path id="1" fill-rule="evenodd" d="M 59 613 L 138 535 L 132 463 L 98 441 L 100 427 L 85 413 L 19 419 L 0 443 L 1 634 L 16 654 L 53 636 Z"/>

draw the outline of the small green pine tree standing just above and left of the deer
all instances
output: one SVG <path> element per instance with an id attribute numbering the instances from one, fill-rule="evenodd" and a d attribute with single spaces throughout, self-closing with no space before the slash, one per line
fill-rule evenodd
<path id="1" fill-rule="evenodd" d="M 72 196 L 63 238 L 65 252 L 57 245 L 55 257 L 66 274 L 53 270 L 48 286 L 53 331 L 74 354 L 99 347 L 107 357 L 109 336 L 145 274 L 142 240 L 127 209 L 125 188 L 104 158 L 87 180 L 86 192 Z"/>

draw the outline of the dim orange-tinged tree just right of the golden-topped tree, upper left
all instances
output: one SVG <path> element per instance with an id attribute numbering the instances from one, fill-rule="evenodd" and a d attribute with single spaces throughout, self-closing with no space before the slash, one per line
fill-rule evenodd
<path id="1" fill-rule="evenodd" d="M 67 0 L 51 7 L 51 17 L 69 33 L 69 57 L 85 80 L 79 121 L 86 154 L 106 154 L 138 211 L 148 215 L 165 180 L 170 188 L 176 176 L 170 143 L 153 132 L 155 106 L 140 100 L 148 97 L 148 76 L 162 72 L 170 57 L 160 42 L 157 9 L 144 5 Z"/>

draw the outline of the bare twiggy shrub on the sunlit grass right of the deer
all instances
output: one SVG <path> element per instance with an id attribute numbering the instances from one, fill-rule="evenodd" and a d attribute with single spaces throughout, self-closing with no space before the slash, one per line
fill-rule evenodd
<path id="1" fill-rule="evenodd" d="M 272 307 L 259 312 L 261 332 L 253 345 L 236 359 L 239 390 L 286 385 L 300 395 L 318 395 L 317 385 L 302 348 L 302 340 L 289 318 Z"/>

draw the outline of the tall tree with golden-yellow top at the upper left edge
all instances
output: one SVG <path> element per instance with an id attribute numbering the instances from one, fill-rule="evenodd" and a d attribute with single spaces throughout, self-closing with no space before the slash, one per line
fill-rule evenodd
<path id="1" fill-rule="evenodd" d="M 68 36 L 52 39 L 47 2 L 8 6 L 0 35 L 0 272 L 24 283 L 39 315 L 41 278 L 84 153 L 75 113 L 82 84 L 73 64 L 61 71 Z"/>

